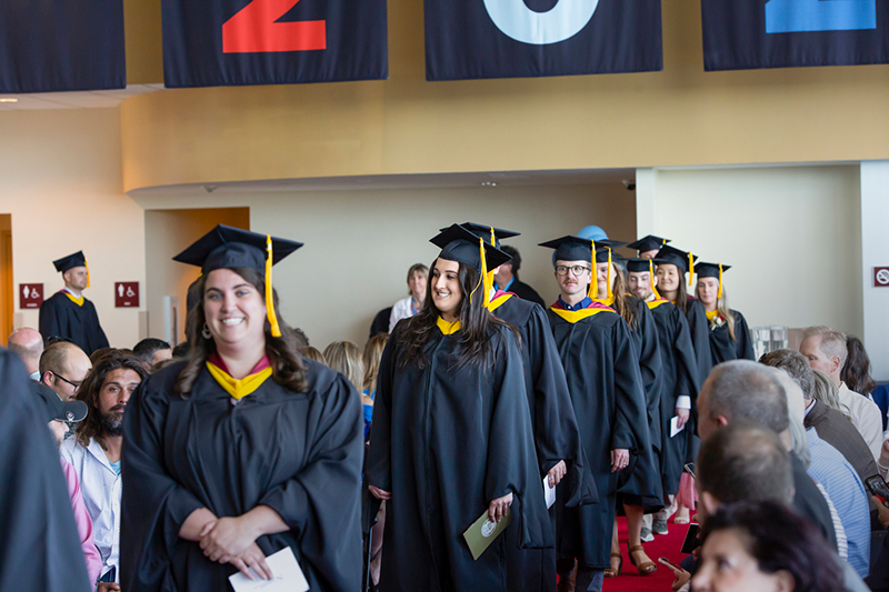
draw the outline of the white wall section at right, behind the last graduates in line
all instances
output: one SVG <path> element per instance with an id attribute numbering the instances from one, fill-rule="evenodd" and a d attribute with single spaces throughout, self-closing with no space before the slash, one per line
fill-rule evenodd
<path id="1" fill-rule="evenodd" d="M 862 334 L 858 165 L 640 172 L 639 231 L 732 265 L 729 303 L 751 327 Z"/>

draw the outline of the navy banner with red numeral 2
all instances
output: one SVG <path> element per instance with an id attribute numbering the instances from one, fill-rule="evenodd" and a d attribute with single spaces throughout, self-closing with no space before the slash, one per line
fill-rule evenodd
<path id="1" fill-rule="evenodd" d="M 169 88 L 379 80 L 386 0 L 162 0 Z"/>

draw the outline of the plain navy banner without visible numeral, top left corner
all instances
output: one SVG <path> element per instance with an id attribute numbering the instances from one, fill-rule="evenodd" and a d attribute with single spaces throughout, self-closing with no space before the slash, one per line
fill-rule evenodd
<path id="1" fill-rule="evenodd" d="M 0 0 L 0 92 L 126 86 L 122 0 Z"/>

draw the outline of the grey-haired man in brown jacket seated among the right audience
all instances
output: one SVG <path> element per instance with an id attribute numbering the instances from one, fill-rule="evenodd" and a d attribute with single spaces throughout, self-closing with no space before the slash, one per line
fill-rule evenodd
<path id="1" fill-rule="evenodd" d="M 815 373 L 806 358 L 792 350 L 775 350 L 762 355 L 760 363 L 785 370 L 802 389 L 806 400 L 806 428 L 815 428 L 818 438 L 836 448 L 855 466 L 863 483 L 869 476 L 879 473 L 877 461 L 870 453 L 865 439 L 855 425 L 836 409 L 812 398 Z"/>

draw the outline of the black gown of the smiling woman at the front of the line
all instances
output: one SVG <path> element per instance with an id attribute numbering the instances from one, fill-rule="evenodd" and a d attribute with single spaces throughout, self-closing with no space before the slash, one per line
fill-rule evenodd
<path id="1" fill-rule="evenodd" d="M 257 505 L 291 528 L 257 540 L 267 556 L 290 546 L 313 592 L 359 590 L 360 398 L 341 374 L 303 363 L 307 392 L 269 378 L 237 405 L 206 368 L 189 399 L 174 394 L 184 362 L 133 393 L 121 463 L 122 590 L 230 590 L 237 570 L 179 530 L 199 508 L 221 518 Z"/>

